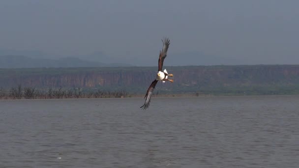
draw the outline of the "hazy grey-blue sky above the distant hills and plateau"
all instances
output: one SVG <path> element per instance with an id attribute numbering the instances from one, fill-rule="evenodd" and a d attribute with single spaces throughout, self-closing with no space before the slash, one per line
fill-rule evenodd
<path id="1" fill-rule="evenodd" d="M 0 0 L 0 50 L 103 52 L 156 65 L 167 36 L 166 65 L 299 64 L 298 7 L 298 0 Z"/>

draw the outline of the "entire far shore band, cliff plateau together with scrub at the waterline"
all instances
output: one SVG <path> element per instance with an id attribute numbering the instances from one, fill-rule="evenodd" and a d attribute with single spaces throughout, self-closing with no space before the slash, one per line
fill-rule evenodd
<path id="1" fill-rule="evenodd" d="M 299 94 L 299 65 L 168 66 L 152 96 Z M 0 69 L 0 99 L 144 97 L 156 67 Z"/>

